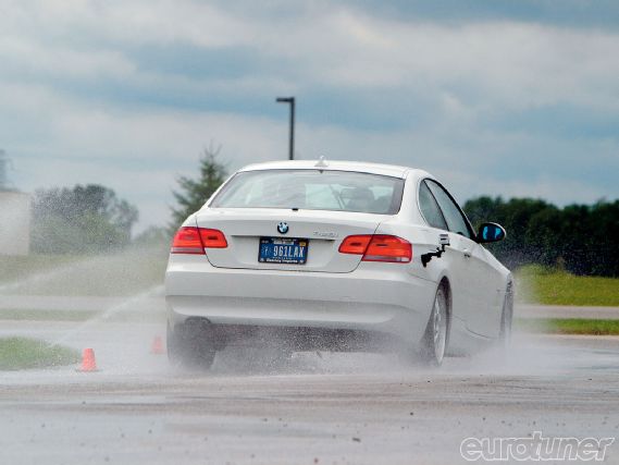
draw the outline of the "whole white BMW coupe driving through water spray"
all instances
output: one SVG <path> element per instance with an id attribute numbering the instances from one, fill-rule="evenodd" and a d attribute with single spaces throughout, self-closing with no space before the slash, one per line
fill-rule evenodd
<path id="1" fill-rule="evenodd" d="M 165 273 L 172 363 L 227 345 L 393 351 L 431 365 L 505 344 L 512 277 L 425 171 L 286 161 L 232 175 L 174 236 Z"/>

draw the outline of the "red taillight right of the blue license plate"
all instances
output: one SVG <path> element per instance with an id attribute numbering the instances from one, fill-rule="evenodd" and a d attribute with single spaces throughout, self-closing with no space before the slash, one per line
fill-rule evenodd
<path id="1" fill-rule="evenodd" d="M 395 261 L 408 264 L 412 260 L 410 242 L 386 234 L 349 235 L 339 246 L 342 254 L 363 255 L 363 261 Z"/>

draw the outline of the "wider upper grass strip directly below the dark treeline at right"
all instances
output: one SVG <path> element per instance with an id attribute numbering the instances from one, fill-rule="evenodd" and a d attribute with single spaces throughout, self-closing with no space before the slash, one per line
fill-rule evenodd
<path id="1" fill-rule="evenodd" d="M 619 279 L 577 277 L 537 265 L 516 272 L 519 301 L 542 305 L 619 306 Z"/>

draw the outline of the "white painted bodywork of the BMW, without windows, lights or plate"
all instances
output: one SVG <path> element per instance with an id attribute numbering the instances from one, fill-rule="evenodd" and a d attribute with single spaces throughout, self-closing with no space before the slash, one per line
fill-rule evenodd
<path id="1" fill-rule="evenodd" d="M 246 167 L 253 170 L 317 170 L 315 161 Z M 448 232 L 450 245 L 428 267 L 421 255 L 434 252 L 446 231 L 426 224 L 418 205 L 419 185 L 429 173 L 406 167 L 329 161 L 324 170 L 355 171 L 406 180 L 396 215 L 271 208 L 211 208 L 212 199 L 184 225 L 216 229 L 227 248 L 206 255 L 171 254 L 165 277 L 171 326 L 187 318 L 213 325 L 331 328 L 376 331 L 419 341 L 442 280 L 450 286 L 450 352 L 468 352 L 496 339 L 510 273 L 482 245 Z M 230 180 L 228 180 L 230 181 Z M 223 186 L 222 186 L 223 187 Z M 220 188 L 221 191 L 221 188 Z M 219 191 L 218 191 L 219 192 Z M 310 240 L 306 265 L 258 262 L 258 238 L 276 236 L 285 221 L 290 237 Z M 409 264 L 361 261 L 337 252 L 352 234 L 392 234 L 412 244 Z"/>

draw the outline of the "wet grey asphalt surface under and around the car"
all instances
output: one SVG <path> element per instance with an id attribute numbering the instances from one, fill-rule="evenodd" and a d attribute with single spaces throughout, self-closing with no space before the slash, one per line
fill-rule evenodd
<path id="1" fill-rule="evenodd" d="M 163 332 L 2 321 L 0 336 L 92 347 L 100 370 L 0 374 L 0 464 L 470 463 L 460 446 L 471 437 L 619 436 L 618 338 L 517 334 L 506 357 L 440 369 L 377 354 L 273 363 L 231 348 L 211 371 L 187 372 L 152 353 Z M 619 443 L 605 458 L 619 463 Z"/>

